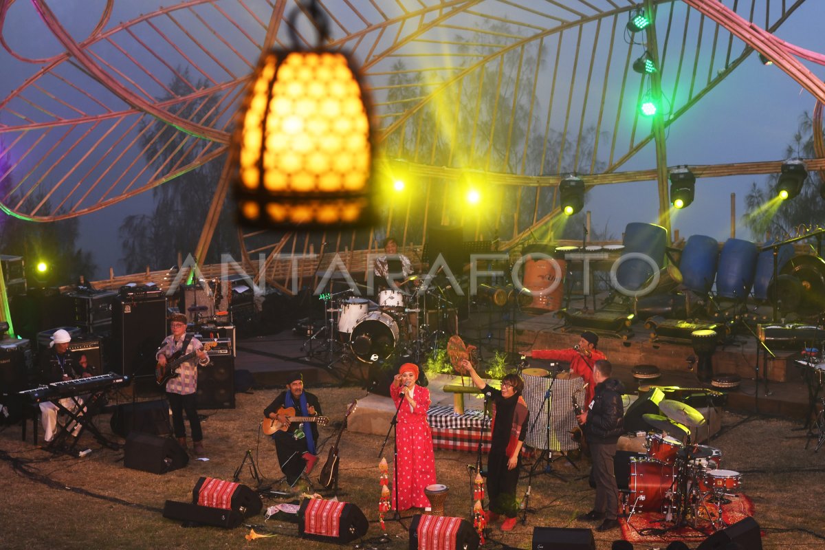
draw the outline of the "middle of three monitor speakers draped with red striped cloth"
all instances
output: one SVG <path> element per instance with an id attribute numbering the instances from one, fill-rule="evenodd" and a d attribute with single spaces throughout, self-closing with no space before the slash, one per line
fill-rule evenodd
<path id="1" fill-rule="evenodd" d="M 298 510 L 298 534 L 321 543 L 347 544 L 370 528 L 361 508 L 350 502 L 304 499 Z"/>

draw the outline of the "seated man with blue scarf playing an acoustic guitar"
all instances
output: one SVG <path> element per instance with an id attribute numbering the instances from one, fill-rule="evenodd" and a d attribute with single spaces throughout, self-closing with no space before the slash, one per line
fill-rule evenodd
<path id="1" fill-rule="evenodd" d="M 318 462 L 318 424 L 316 422 L 290 422 L 281 409 L 294 408 L 294 416 L 316 416 L 321 413 L 321 404 L 313 393 L 304 391 L 304 375 L 295 372 L 290 375 L 286 391 L 263 411 L 263 416 L 274 418 L 281 424 L 289 425 L 286 430 L 272 434 L 278 464 L 286 476 L 286 482 L 293 487 L 302 473 L 309 475 Z M 281 411 L 279 413 L 279 411 Z"/>

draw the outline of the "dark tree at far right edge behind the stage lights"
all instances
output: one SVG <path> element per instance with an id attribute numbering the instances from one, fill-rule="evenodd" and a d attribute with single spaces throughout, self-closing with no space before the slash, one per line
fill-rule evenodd
<path id="1" fill-rule="evenodd" d="M 813 119 L 807 111 L 799 116 L 799 128 L 785 148 L 785 157 L 816 157 L 813 150 Z M 762 186 L 754 181 L 745 197 L 746 214 L 743 221 L 754 240 L 761 241 L 768 236 L 781 239 L 784 235 L 794 234 L 795 229 L 801 225 L 822 224 L 825 220 L 825 200 L 820 196 L 823 182 L 818 172 L 808 171 L 808 179 L 799 196 L 781 201 L 773 215 L 770 215 L 770 212 L 761 207 L 776 196 L 778 181 L 779 174 L 768 176 Z"/>

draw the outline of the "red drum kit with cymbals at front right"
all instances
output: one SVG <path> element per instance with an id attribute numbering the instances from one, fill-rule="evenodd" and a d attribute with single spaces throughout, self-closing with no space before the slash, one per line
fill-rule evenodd
<path id="1" fill-rule="evenodd" d="M 628 522 L 637 511 L 664 515 L 673 528 L 700 520 L 714 530 L 724 529 L 722 505 L 735 496 L 742 474 L 720 469 L 722 451 L 708 445 L 690 444 L 690 428 L 705 424 L 699 411 L 682 402 L 663 400 L 659 409 L 666 415 L 645 414 L 643 419 L 659 430 L 646 437 L 647 456 L 630 461 L 625 494 Z M 684 439 L 688 440 L 683 444 Z"/>

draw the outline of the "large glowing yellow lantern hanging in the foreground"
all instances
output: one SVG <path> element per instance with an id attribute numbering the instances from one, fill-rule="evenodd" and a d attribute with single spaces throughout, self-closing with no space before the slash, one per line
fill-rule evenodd
<path id="1" fill-rule="evenodd" d="M 307 13 L 316 49 L 263 54 L 238 113 L 230 154 L 240 223 L 326 228 L 371 219 L 369 103 L 351 59 L 323 49 L 316 2 Z"/>

